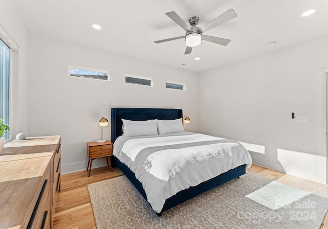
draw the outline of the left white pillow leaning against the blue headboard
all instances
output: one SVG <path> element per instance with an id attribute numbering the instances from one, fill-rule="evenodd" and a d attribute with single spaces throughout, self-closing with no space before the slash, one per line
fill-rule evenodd
<path id="1" fill-rule="evenodd" d="M 122 119 L 123 136 L 146 136 L 146 135 L 158 135 L 157 132 L 157 120 L 147 121 L 131 121 Z"/>

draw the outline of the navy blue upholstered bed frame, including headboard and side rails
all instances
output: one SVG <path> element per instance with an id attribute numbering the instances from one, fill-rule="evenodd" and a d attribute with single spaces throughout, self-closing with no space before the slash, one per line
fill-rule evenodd
<path id="1" fill-rule="evenodd" d="M 182 118 L 181 109 L 165 109 L 165 108 L 112 108 L 111 117 L 111 141 L 114 143 L 118 136 L 122 135 L 122 120 L 145 121 L 149 119 L 173 120 Z M 131 183 L 136 187 L 140 194 L 146 199 L 147 195 L 142 187 L 141 182 L 135 177 L 135 174 L 125 164 L 121 163 L 117 157 L 114 157 L 114 163 L 128 177 Z M 161 212 L 156 214 L 161 216 L 161 213 L 173 208 L 174 206 L 191 199 L 203 192 L 213 189 L 229 180 L 239 178 L 246 173 L 245 165 L 238 166 L 228 172 L 222 173 L 210 180 L 204 181 L 201 184 L 182 190 L 171 196 L 165 201 Z"/>

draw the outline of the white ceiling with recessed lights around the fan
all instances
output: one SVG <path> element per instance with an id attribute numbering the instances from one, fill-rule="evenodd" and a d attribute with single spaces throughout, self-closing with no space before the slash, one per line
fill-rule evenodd
<path id="1" fill-rule="evenodd" d="M 13 0 L 28 31 L 99 50 L 203 72 L 244 58 L 328 34 L 326 0 Z M 311 8 L 317 13 L 299 15 Z M 226 46 L 202 41 L 184 55 L 184 39 L 153 41 L 185 35 L 165 13 L 175 11 L 198 27 L 229 9 L 237 17 L 206 35 L 231 39 Z M 99 24 L 96 31 L 91 25 Z M 276 41 L 276 45 L 267 45 Z M 196 61 L 195 57 L 201 59 Z M 185 63 L 186 65 L 181 65 Z"/>

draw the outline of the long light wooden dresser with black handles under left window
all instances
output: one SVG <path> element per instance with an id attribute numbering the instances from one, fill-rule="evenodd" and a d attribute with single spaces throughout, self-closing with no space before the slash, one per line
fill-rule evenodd
<path id="1" fill-rule="evenodd" d="M 60 135 L 14 140 L 0 154 L 0 228 L 52 228 Z"/>

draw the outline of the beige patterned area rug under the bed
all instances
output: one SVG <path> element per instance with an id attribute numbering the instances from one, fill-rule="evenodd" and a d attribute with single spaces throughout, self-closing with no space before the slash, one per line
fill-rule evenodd
<path id="1" fill-rule="evenodd" d="M 88 185 L 98 229 L 319 228 L 328 199 L 247 173 L 158 217 L 126 176 Z"/>

